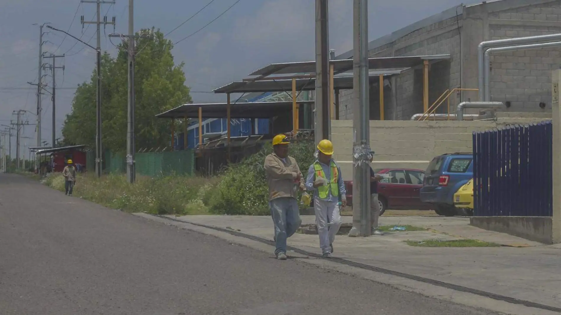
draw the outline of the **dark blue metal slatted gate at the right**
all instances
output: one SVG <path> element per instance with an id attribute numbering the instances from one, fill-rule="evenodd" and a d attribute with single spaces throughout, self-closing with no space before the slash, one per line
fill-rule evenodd
<path id="1" fill-rule="evenodd" d="M 551 122 L 473 133 L 475 216 L 553 214 Z"/>

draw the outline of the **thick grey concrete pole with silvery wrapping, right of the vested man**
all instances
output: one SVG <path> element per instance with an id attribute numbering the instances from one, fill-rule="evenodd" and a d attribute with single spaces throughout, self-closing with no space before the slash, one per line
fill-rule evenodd
<path id="1" fill-rule="evenodd" d="M 370 110 L 368 3 L 353 1 L 353 227 L 349 236 L 370 236 Z"/>

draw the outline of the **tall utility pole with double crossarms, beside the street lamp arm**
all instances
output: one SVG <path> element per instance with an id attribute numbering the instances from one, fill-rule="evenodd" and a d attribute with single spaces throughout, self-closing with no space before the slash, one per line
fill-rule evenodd
<path id="1" fill-rule="evenodd" d="M 112 24 L 113 28 L 115 27 L 115 17 L 113 17 L 112 22 L 107 21 L 107 16 L 103 17 L 103 22 L 100 21 L 101 18 L 101 4 L 115 4 L 114 1 L 102 1 L 102 0 L 82 0 L 81 3 L 95 3 L 97 9 L 97 20 L 93 21 L 84 21 L 84 16 L 81 16 L 82 27 L 84 24 L 95 24 L 97 26 L 97 45 L 96 45 L 96 72 L 97 72 L 97 91 L 96 91 L 96 122 L 95 122 L 95 174 L 98 177 L 102 176 L 102 91 L 101 91 L 101 62 L 102 62 L 102 40 L 101 40 L 101 33 L 100 33 L 100 25 L 103 24 L 103 27 L 107 24 Z"/>

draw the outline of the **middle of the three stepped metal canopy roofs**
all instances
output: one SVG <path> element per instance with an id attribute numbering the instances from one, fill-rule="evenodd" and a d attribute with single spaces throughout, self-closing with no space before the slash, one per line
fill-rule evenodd
<path id="1" fill-rule="evenodd" d="M 387 70 L 387 71 L 374 71 L 370 72 L 370 84 L 378 82 L 380 75 L 389 77 L 399 75 L 402 70 Z M 313 91 L 315 90 L 315 78 L 297 78 L 296 90 L 297 91 Z M 353 77 L 350 75 L 334 76 L 333 89 L 334 90 L 352 90 Z M 230 84 L 219 87 L 213 92 L 221 93 L 251 93 L 251 92 L 288 92 L 292 90 L 292 80 L 260 80 L 260 81 L 234 81 Z M 298 103 L 302 103 L 298 101 Z"/>

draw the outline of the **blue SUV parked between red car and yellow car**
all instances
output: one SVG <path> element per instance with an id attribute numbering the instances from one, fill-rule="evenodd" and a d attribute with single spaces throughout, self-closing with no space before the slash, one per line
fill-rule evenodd
<path id="1" fill-rule="evenodd" d="M 433 204 L 433 210 L 438 215 L 458 215 L 458 210 L 454 207 L 454 193 L 472 177 L 473 154 L 453 153 L 436 156 L 425 172 L 421 202 Z"/>

